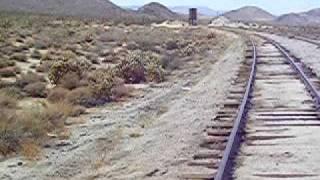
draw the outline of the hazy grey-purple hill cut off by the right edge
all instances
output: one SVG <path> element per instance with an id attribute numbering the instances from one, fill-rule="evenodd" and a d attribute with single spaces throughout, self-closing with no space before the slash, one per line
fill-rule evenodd
<path id="1" fill-rule="evenodd" d="M 279 16 L 275 21 L 283 25 L 320 25 L 320 8 L 302 13 L 289 13 Z"/>

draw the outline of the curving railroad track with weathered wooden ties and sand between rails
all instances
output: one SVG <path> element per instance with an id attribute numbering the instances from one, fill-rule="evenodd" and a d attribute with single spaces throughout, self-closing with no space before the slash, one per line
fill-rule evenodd
<path id="1" fill-rule="evenodd" d="M 279 44 L 249 44 L 183 179 L 320 179 L 320 81 Z"/>

